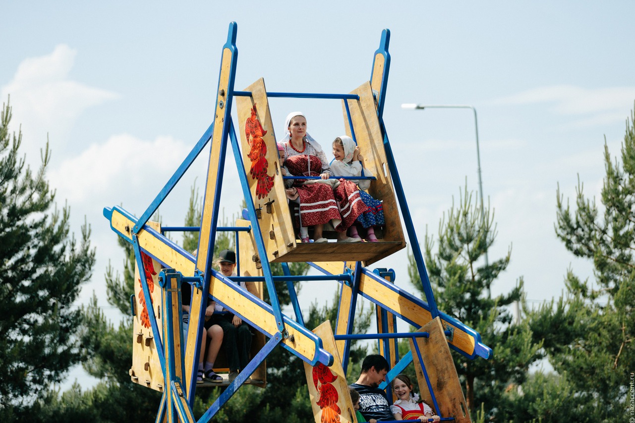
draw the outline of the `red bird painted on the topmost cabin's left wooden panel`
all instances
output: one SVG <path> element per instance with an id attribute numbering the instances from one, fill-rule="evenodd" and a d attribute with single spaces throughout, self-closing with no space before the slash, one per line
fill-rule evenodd
<path id="1" fill-rule="evenodd" d="M 251 160 L 250 174 L 251 178 L 256 179 L 256 195 L 258 198 L 265 198 L 274 185 L 273 176 L 267 174 L 267 146 L 262 139 L 267 131 L 262 128 L 260 120 L 256 117 L 256 105 L 254 103 L 251 108 L 251 117 L 244 123 L 244 134 L 247 137 L 247 143 L 251 146 L 248 157 Z"/>

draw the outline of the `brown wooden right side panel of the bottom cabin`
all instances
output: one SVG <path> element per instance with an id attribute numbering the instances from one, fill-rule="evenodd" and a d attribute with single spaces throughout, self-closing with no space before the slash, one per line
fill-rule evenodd
<path id="1" fill-rule="evenodd" d="M 458 423 L 470 423 L 471 419 L 467 412 L 465 397 L 458 381 L 457 369 L 454 367 L 448 342 L 443 333 L 441 319 L 432 320 L 417 332 L 428 332 L 430 334 L 427 338 L 410 339 L 410 349 L 415 363 L 421 399 L 434 410 L 432 396 L 425 382 L 421 362 L 413 340 L 417 342 L 434 396 L 439 408 L 441 408 L 441 410 L 436 410 L 436 413 L 441 415 L 441 417 L 454 417 L 454 421 Z"/>

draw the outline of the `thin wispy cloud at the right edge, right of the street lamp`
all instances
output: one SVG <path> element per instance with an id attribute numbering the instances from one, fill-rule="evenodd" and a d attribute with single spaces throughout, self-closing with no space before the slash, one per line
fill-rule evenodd
<path id="1" fill-rule="evenodd" d="M 635 87 L 586 89 L 571 85 L 540 87 L 491 101 L 495 105 L 552 103 L 551 111 L 559 115 L 598 114 L 587 124 L 606 123 L 607 119 L 624 119 L 631 110 Z M 619 113 L 618 113 L 619 112 Z M 614 120 L 611 120 L 614 121 Z"/>

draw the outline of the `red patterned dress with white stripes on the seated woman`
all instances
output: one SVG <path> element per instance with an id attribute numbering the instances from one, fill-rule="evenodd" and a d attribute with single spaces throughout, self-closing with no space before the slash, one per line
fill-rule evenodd
<path id="1" fill-rule="evenodd" d="M 294 176 L 319 176 L 321 173 L 332 175 L 324 152 L 318 152 L 310 143 L 304 143 L 303 151 L 298 152 L 284 143 L 286 160 L 284 166 Z M 331 185 L 314 183 L 304 185 L 306 179 L 295 179 L 293 186 L 300 195 L 300 222 L 302 226 L 323 225 L 332 221 L 336 231 L 345 231 L 368 207 L 359 197 L 355 183 L 340 179 L 340 185 L 333 190 Z M 300 224 L 298 222 L 298 225 Z"/>

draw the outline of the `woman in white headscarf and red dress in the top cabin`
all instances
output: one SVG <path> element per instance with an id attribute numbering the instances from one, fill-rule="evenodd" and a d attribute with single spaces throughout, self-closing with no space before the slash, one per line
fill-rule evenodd
<path id="1" fill-rule="evenodd" d="M 294 181 L 300 197 L 299 226 L 312 226 L 314 242 L 327 242 L 323 237 L 324 223 L 331 221 L 338 242 L 358 242 L 359 238 L 347 237 L 346 230 L 367 207 L 354 183 L 329 179 L 333 172 L 322 148 L 307 133 L 307 119 L 302 112 L 291 112 L 286 117 L 284 137 L 279 142 L 286 156 L 284 165 L 292 175 L 321 176 L 317 180 Z M 300 237 L 302 242 L 309 242 L 308 235 L 301 233 Z"/>

